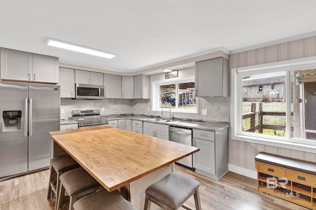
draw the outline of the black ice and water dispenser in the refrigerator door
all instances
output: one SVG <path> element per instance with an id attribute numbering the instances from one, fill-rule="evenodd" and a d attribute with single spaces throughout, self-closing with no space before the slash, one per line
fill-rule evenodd
<path id="1" fill-rule="evenodd" d="M 22 111 L 3 111 L 2 131 L 21 130 Z"/>

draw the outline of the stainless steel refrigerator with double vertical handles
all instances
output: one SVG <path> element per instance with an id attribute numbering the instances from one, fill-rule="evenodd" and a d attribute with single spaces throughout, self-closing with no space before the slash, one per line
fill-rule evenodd
<path id="1" fill-rule="evenodd" d="M 0 179 L 49 167 L 60 86 L 0 81 Z"/>

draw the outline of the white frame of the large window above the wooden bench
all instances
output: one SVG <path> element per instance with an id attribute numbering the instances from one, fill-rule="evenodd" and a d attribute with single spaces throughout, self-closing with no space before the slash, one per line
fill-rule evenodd
<path id="1" fill-rule="evenodd" d="M 286 71 L 286 102 L 289 102 L 291 91 L 289 72 L 307 69 L 316 69 L 316 56 L 231 69 L 231 139 L 316 153 L 316 140 L 290 138 L 290 126 L 286 126 L 286 137 L 243 132 L 241 129 L 242 76 Z M 291 122 L 289 111 L 290 103 L 287 103 L 286 125 L 290 125 Z"/>

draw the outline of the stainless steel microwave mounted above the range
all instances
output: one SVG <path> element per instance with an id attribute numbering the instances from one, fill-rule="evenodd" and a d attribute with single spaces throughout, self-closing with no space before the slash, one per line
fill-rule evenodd
<path id="1" fill-rule="evenodd" d="M 104 99 L 103 85 L 76 83 L 76 99 Z"/>

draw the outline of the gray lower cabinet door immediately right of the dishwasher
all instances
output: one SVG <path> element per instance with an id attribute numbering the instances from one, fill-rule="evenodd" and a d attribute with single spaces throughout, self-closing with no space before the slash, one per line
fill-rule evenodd
<path id="1" fill-rule="evenodd" d="M 200 149 L 193 154 L 193 167 L 215 175 L 215 142 L 193 139 L 193 144 Z"/>

